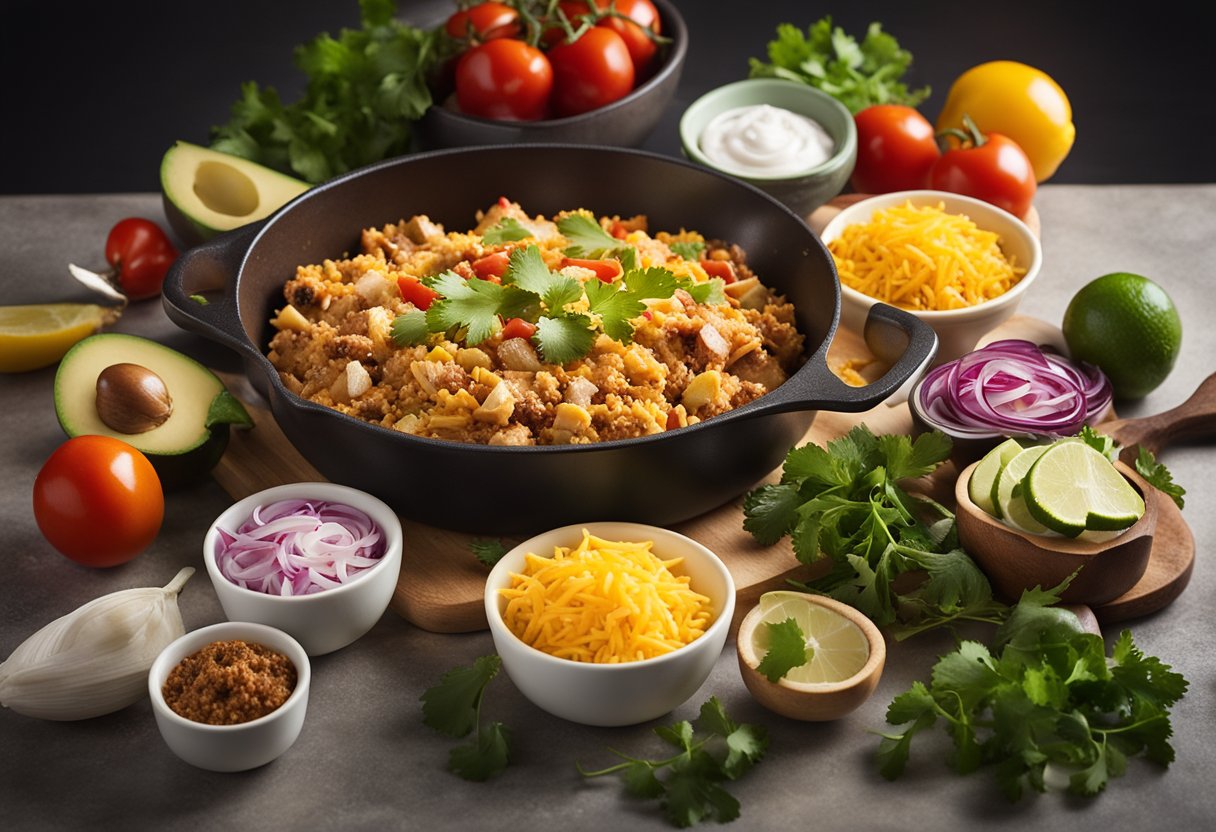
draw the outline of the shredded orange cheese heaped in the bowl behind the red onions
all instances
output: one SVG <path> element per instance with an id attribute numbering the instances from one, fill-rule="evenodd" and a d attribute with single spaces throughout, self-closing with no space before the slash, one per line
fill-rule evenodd
<path id="1" fill-rule="evenodd" d="M 903 309 L 963 309 L 1008 292 L 1026 274 L 1000 235 L 945 206 L 876 210 L 828 243 L 840 282 Z"/>

